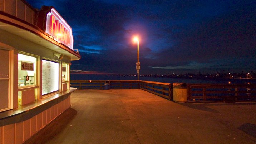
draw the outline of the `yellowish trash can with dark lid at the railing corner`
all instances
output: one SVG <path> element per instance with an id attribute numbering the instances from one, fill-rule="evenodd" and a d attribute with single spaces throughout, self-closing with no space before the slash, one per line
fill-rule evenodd
<path id="1" fill-rule="evenodd" d="M 173 83 L 173 101 L 179 103 L 187 102 L 187 84 Z"/>

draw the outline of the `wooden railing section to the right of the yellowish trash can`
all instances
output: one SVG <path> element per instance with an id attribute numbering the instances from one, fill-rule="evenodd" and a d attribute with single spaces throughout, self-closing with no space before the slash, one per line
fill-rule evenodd
<path id="1" fill-rule="evenodd" d="M 188 84 L 188 101 L 256 100 L 256 84 Z"/>

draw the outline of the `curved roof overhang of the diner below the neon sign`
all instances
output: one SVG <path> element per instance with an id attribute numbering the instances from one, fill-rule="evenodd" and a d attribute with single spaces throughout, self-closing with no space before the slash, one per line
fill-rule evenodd
<path id="1" fill-rule="evenodd" d="M 45 48 L 56 51 L 57 53 L 62 53 L 63 55 L 70 57 L 71 60 L 79 60 L 81 58 L 79 53 L 54 39 L 53 36 L 47 34 L 38 26 L 16 18 L 15 16 L 6 14 L 2 11 L 0 11 L 0 30 L 20 36 L 21 38 L 44 46 Z"/>

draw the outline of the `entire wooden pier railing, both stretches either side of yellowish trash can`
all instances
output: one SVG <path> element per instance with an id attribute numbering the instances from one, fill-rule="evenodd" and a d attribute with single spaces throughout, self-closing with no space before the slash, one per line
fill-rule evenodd
<path id="1" fill-rule="evenodd" d="M 173 99 L 171 83 L 142 80 L 71 80 L 71 86 L 77 89 L 142 89 L 168 100 Z M 255 101 L 256 84 L 187 84 L 187 98 L 188 101 Z"/>

